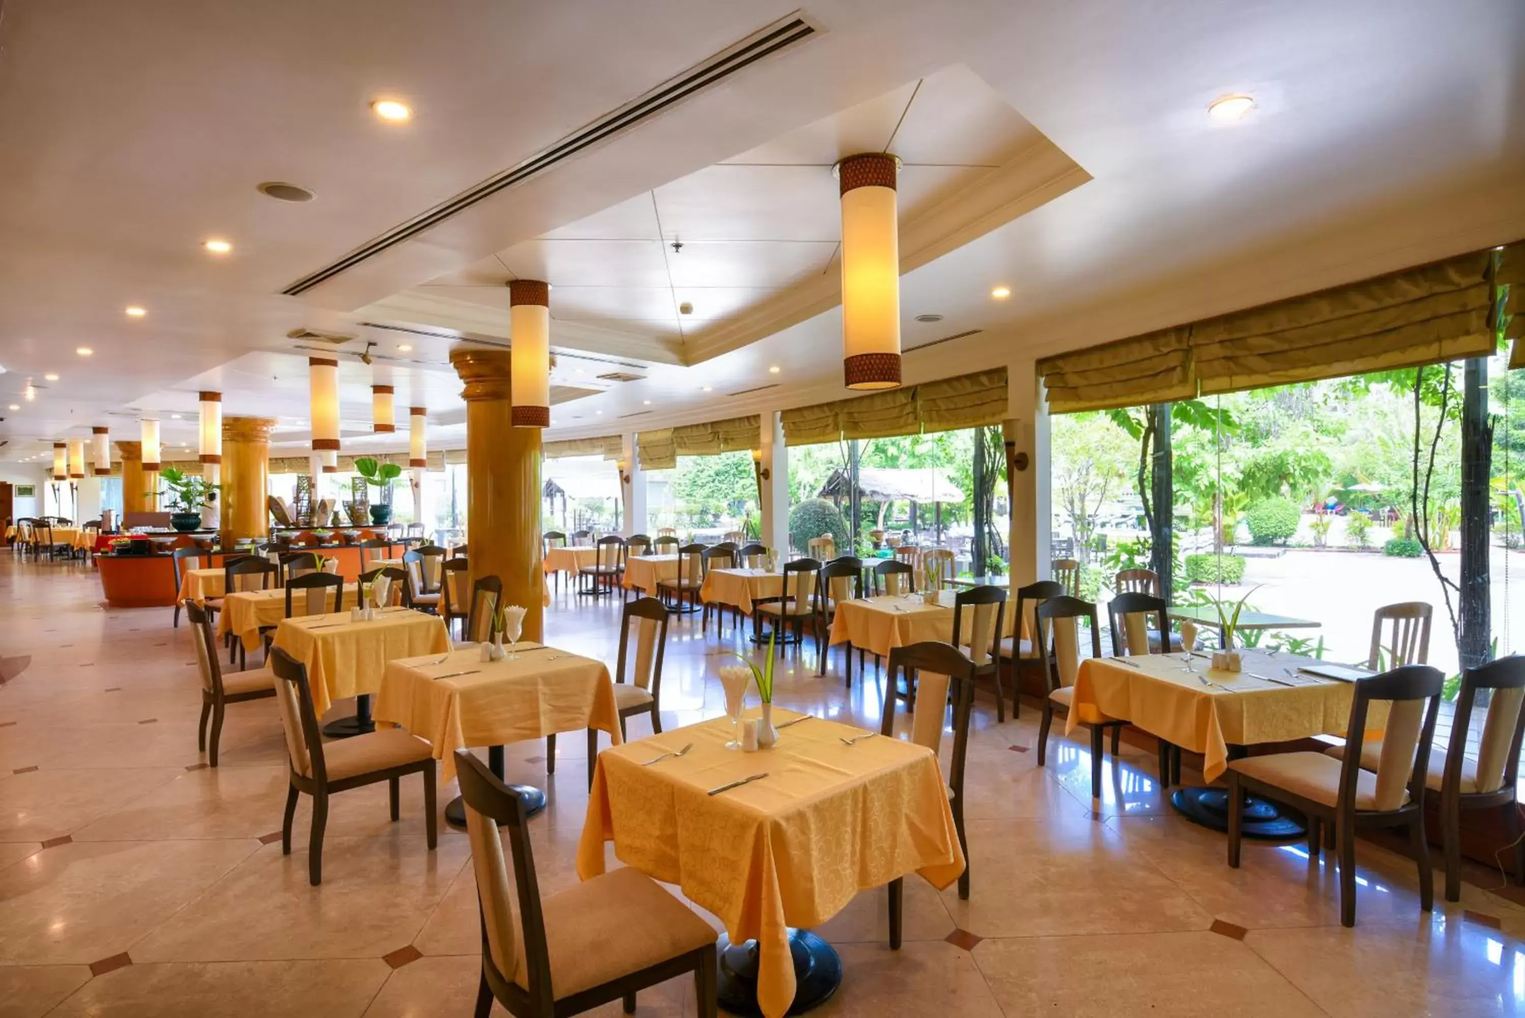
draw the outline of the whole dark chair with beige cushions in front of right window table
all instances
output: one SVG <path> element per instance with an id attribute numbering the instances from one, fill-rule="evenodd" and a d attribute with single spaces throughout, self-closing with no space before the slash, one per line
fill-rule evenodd
<path id="1" fill-rule="evenodd" d="M 1340 923 L 1356 925 L 1356 830 L 1400 827 L 1418 865 L 1420 907 L 1435 904 L 1429 841 L 1424 838 L 1424 792 L 1430 742 L 1446 676 L 1426 664 L 1409 664 L 1354 682 L 1350 740 L 1344 760 L 1322 752 L 1272 752 L 1232 760 L 1229 783 L 1229 865 L 1238 868 L 1246 795 L 1286 803 L 1308 821 L 1308 855 L 1319 858 L 1319 824 L 1331 824 L 1339 852 Z M 1388 719 L 1376 771 L 1360 766 L 1372 701 L 1388 701 Z"/>

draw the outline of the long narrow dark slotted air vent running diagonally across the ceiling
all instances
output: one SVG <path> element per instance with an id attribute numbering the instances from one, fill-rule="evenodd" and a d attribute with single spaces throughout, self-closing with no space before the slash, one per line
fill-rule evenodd
<path id="1" fill-rule="evenodd" d="M 653 116 L 673 108 L 679 102 L 727 81 L 756 61 L 772 56 L 779 50 L 788 49 L 790 46 L 804 43 L 811 35 L 819 34 L 820 29 L 810 24 L 810 21 L 798 12 L 790 14 L 766 29 L 755 32 L 740 43 L 715 53 L 709 60 L 695 64 L 676 78 L 657 85 L 644 96 L 631 99 L 618 110 L 605 113 L 587 127 L 567 134 L 561 140 L 531 156 L 517 166 L 509 166 L 503 172 L 488 177 L 474 188 L 458 194 L 444 205 L 438 205 L 422 215 L 416 215 L 400 226 L 393 226 L 381 237 L 357 247 L 334 264 L 297 279 L 281 293 L 287 296 L 307 293 L 317 284 L 332 279 L 342 272 L 354 269 L 368 258 L 374 258 L 390 247 L 422 234 L 432 226 L 444 223 L 451 215 L 470 209 L 477 201 L 490 198 L 505 188 L 523 183 L 525 180 L 551 169 L 563 160 L 576 156 L 583 150 L 605 142 L 616 134 L 621 134 L 622 131 L 627 131 Z"/>

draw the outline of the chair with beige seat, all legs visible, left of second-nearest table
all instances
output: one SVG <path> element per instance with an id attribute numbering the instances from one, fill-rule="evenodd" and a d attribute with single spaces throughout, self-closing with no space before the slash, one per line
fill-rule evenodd
<path id="1" fill-rule="evenodd" d="M 291 855 L 291 821 L 302 794 L 313 797 L 313 829 L 308 835 L 308 881 L 317 887 L 323 881 L 323 829 L 328 826 L 328 797 L 352 788 L 386 781 L 390 792 L 392 821 L 401 818 L 400 780 L 409 774 L 424 775 L 424 832 L 433 852 L 439 835 L 439 810 L 435 801 L 435 755 L 427 739 L 401 728 L 378 728 L 364 736 L 329 743 L 317 726 L 313 690 L 307 682 L 307 665 L 281 647 L 270 652 L 270 668 L 276 676 L 276 704 L 287 736 L 290 788 L 285 820 L 281 824 L 281 853 Z"/>

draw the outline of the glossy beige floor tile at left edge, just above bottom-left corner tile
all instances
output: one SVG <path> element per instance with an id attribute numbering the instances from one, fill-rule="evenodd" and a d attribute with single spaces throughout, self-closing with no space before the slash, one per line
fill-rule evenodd
<path id="1" fill-rule="evenodd" d="M 131 948 L 258 849 L 256 841 L 108 841 L 0 870 L 0 963 L 88 965 Z"/>

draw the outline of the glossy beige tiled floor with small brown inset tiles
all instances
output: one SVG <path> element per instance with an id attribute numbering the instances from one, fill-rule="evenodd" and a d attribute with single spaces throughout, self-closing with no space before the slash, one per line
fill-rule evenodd
<path id="1" fill-rule="evenodd" d="M 0 1018 L 35 1015 L 470 1015 L 476 887 L 464 835 L 427 852 L 422 795 L 403 821 L 381 788 L 334 801 L 325 882 L 307 882 L 307 803 L 281 855 L 284 742 L 270 701 L 229 710 L 221 766 L 200 766 L 198 679 L 169 609 L 105 610 L 82 565 L 0 552 Z M 563 597 L 552 643 L 613 661 L 618 606 Z M 732 633 L 673 626 L 663 723 L 720 711 Z M 30 656 L 26 664 L 24 658 Z M 874 723 L 880 685 L 779 676 L 779 702 Z M 839 662 L 833 655 L 833 672 Z M 1246 847 L 1177 818 L 1153 759 L 1107 762 L 1092 804 L 1086 748 L 1037 768 L 1035 711 L 997 725 L 981 704 L 968 759 L 973 896 L 906 884 L 906 945 L 886 943 L 883 891 L 819 933 L 842 954 L 820 1015 L 1496 1015 L 1525 1010 L 1525 910 L 1466 885 L 1418 908 L 1412 864 L 1362 844 L 1359 926 L 1339 926 L 1331 864 L 1301 846 Z M 340 710 L 345 707 L 342 705 Z M 631 736 L 644 730 L 633 722 Z M 1013 751 L 1013 749 L 1019 751 Z M 544 743 L 511 746 L 509 780 L 543 784 L 532 821 L 546 893 L 576 879 L 587 801 L 583 739 L 544 775 Z M 444 789 L 441 803 L 454 789 Z M 642 1015 L 691 1015 L 674 980 Z M 601 1013 L 618 1013 L 610 1006 Z"/>

